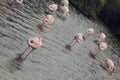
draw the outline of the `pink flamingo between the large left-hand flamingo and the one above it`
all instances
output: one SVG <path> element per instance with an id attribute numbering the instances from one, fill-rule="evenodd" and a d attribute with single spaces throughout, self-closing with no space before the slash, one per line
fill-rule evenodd
<path id="1" fill-rule="evenodd" d="M 40 29 L 40 31 L 44 31 L 43 26 L 50 25 L 53 23 L 53 21 L 54 21 L 53 15 L 47 15 L 46 18 L 43 20 L 43 23 L 41 25 L 38 25 L 37 27 Z"/>

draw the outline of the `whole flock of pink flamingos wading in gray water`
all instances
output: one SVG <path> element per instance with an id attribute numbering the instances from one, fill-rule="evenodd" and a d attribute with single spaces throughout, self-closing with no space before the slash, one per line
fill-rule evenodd
<path id="1" fill-rule="evenodd" d="M 16 2 L 23 3 L 23 0 L 16 0 Z M 45 11 L 46 17 L 43 20 L 43 23 L 39 26 L 40 29 L 42 29 L 44 25 L 53 24 L 54 16 L 52 15 L 52 13 L 56 12 L 57 10 L 58 10 L 57 4 L 51 4 L 48 6 L 48 10 Z M 69 16 L 69 1 L 68 0 L 61 0 L 60 10 L 61 10 L 61 17 L 63 19 L 67 19 Z M 95 31 L 93 28 L 87 29 L 84 35 L 81 32 L 77 33 L 74 36 L 73 40 L 69 44 L 67 44 L 65 48 L 68 50 L 71 50 L 72 46 L 75 45 L 75 43 L 84 42 L 88 36 L 94 33 Z M 94 40 L 94 42 L 97 44 L 97 49 L 92 52 L 94 56 L 96 56 L 100 51 L 104 51 L 108 48 L 107 43 L 104 42 L 105 38 L 106 38 L 106 35 L 104 33 L 101 33 L 97 37 L 97 39 Z M 16 60 L 18 61 L 26 60 L 27 57 L 30 55 L 30 53 L 32 53 L 34 50 L 42 46 L 42 38 L 41 37 L 29 38 L 27 43 L 28 43 L 28 47 L 22 53 L 17 54 Z M 26 53 L 28 49 L 31 49 L 31 50 L 28 53 Z M 116 72 L 117 69 L 112 60 L 110 60 L 109 58 L 104 58 L 104 62 L 106 64 L 105 67 L 110 75 Z M 118 63 L 120 64 L 120 59 Z"/>

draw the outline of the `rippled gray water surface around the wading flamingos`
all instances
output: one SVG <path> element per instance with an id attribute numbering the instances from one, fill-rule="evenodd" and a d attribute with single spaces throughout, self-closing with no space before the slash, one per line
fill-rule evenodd
<path id="1" fill-rule="evenodd" d="M 119 58 L 119 41 L 109 29 L 100 23 L 92 22 L 80 12 L 70 7 L 70 16 L 62 21 L 57 15 L 52 25 L 39 32 L 36 25 L 45 18 L 44 10 L 52 1 L 25 0 L 22 4 L 12 5 L 0 2 L 0 80 L 120 80 L 120 69 L 109 76 L 100 67 L 104 57 L 113 62 Z M 43 5 L 44 4 L 44 5 Z M 83 43 L 77 43 L 72 51 L 64 52 L 64 47 L 77 32 L 85 33 L 94 28 L 95 34 Z M 108 49 L 100 52 L 97 59 L 89 57 L 89 51 L 97 45 L 93 40 L 101 33 L 107 35 Z M 16 54 L 27 47 L 27 39 L 41 36 L 42 47 L 36 49 L 25 60 L 20 69 L 11 66 Z"/>

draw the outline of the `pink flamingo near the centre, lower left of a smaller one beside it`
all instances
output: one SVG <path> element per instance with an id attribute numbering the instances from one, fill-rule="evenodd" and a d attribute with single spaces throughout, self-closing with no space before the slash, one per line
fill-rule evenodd
<path id="1" fill-rule="evenodd" d="M 81 43 L 83 42 L 83 36 L 82 36 L 82 33 L 77 33 L 74 37 L 74 39 L 68 44 L 65 46 L 66 49 L 69 49 L 71 50 L 71 47 L 76 43 Z"/>

